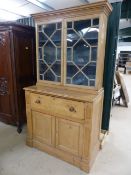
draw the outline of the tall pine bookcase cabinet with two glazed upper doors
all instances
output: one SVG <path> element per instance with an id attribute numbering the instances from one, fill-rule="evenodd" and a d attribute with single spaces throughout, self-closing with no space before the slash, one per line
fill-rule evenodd
<path id="1" fill-rule="evenodd" d="M 25 88 L 27 145 L 89 172 L 100 146 L 107 1 L 33 15 L 37 83 Z"/>

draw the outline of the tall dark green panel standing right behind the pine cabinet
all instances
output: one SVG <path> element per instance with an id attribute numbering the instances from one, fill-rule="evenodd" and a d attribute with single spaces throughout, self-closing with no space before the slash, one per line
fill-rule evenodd
<path id="1" fill-rule="evenodd" d="M 102 116 L 102 130 L 109 130 L 112 87 L 114 80 L 116 49 L 118 40 L 119 20 L 121 14 L 121 2 L 112 4 L 113 11 L 108 19 L 107 40 L 105 52 L 105 69 L 103 77 L 104 102 Z"/>

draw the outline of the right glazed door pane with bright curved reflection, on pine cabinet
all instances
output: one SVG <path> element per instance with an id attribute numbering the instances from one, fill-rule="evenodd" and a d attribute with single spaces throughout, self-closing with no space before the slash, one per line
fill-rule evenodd
<path id="1" fill-rule="evenodd" d="M 66 84 L 95 87 L 99 18 L 66 22 Z"/>

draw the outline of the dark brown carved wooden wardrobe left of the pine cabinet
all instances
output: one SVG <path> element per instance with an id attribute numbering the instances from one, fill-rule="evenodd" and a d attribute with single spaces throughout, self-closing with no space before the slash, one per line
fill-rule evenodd
<path id="1" fill-rule="evenodd" d="M 0 23 L 0 121 L 18 126 L 26 122 L 23 88 L 36 83 L 35 29 Z"/>

